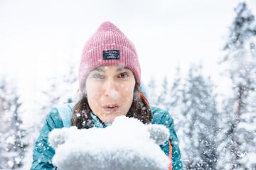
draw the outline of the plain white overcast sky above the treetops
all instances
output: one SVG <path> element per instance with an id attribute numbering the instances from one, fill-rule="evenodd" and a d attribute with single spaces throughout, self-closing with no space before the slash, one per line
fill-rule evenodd
<path id="1" fill-rule="evenodd" d="M 246 1 L 256 15 L 256 1 Z M 82 46 L 104 21 L 134 42 L 142 80 L 165 75 L 179 65 L 186 74 L 202 63 L 218 84 L 228 26 L 237 0 L 0 0 L 0 71 L 31 97 L 46 78 L 78 67 Z"/>

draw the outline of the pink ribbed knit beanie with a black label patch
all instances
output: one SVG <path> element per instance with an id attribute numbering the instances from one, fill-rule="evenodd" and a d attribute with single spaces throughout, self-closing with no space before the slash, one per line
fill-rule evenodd
<path id="1" fill-rule="evenodd" d="M 85 88 L 88 73 L 95 67 L 122 65 L 131 69 L 137 84 L 141 84 L 141 69 L 132 42 L 113 23 L 100 25 L 82 50 L 79 67 L 80 91 Z"/>

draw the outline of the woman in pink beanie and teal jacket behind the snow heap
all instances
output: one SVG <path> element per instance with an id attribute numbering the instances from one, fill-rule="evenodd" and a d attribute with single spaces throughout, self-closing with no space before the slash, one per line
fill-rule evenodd
<path id="1" fill-rule="evenodd" d="M 134 45 L 110 22 L 86 42 L 79 68 L 82 97 L 77 103 L 53 108 L 46 118 L 33 149 L 31 169 L 57 169 L 51 163 L 55 151 L 48 144 L 48 133 L 54 128 L 105 128 L 118 115 L 137 118 L 144 124 L 162 124 L 170 130 L 170 139 L 161 149 L 172 164 L 182 169 L 174 121 L 168 111 L 150 107 L 141 92 L 141 70 Z"/>

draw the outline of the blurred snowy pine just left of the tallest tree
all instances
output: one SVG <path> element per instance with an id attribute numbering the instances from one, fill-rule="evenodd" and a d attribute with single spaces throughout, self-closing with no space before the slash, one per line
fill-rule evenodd
<path id="1" fill-rule="evenodd" d="M 201 74 L 201 67 L 191 67 L 183 87 L 181 106 L 183 135 L 180 136 L 186 169 L 217 169 L 216 135 L 218 111 L 213 84 Z"/>

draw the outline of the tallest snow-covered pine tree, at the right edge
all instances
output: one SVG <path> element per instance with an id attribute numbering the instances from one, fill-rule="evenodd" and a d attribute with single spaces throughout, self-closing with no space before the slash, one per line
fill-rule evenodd
<path id="1" fill-rule="evenodd" d="M 230 160 L 225 162 L 225 169 L 255 169 L 256 162 L 251 157 L 256 152 L 256 23 L 245 2 L 238 4 L 235 13 L 222 62 L 228 67 L 233 84 L 233 96 L 225 101 L 228 116 L 223 119 L 227 125 L 223 127 L 224 156 Z"/>

